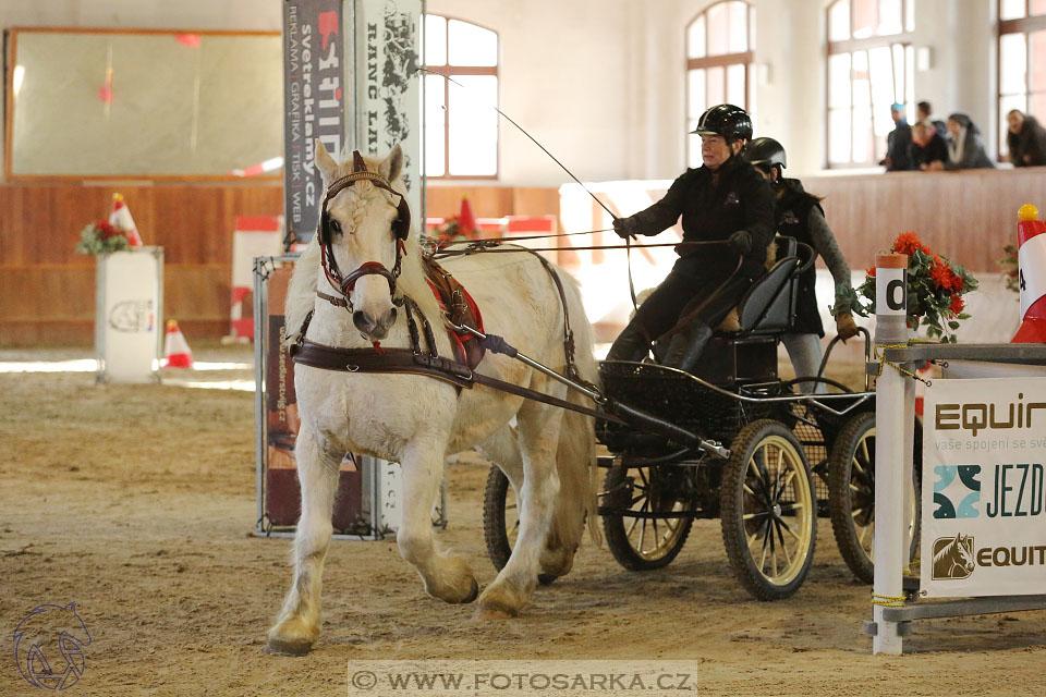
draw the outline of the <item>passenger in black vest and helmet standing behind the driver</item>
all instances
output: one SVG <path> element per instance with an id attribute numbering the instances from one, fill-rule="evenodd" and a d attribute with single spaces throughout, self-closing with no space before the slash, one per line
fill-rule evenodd
<path id="1" fill-rule="evenodd" d="M 932 126 L 929 130 L 933 132 Z M 858 326 L 849 310 L 848 295 L 843 292 L 844 289 L 850 288 L 850 267 L 836 242 L 836 235 L 825 220 L 820 199 L 807 194 L 803 189 L 803 183 L 798 179 L 783 178 L 784 148 L 774 138 L 752 140 L 745 148 L 744 159 L 752 162 L 774 188 L 778 233 L 810 245 L 825 260 L 836 285 L 832 306 L 836 311 L 836 333 L 843 341 L 856 335 Z M 795 376 L 800 378 L 816 376 L 820 367 L 820 338 L 825 335 L 825 328 L 820 321 L 820 313 L 817 310 L 816 284 L 817 270 L 814 265 L 811 265 L 799 277 L 793 331 L 783 337 L 788 357 L 792 360 Z M 815 382 L 803 382 L 800 389 L 807 394 L 827 391 L 824 383 Z"/>

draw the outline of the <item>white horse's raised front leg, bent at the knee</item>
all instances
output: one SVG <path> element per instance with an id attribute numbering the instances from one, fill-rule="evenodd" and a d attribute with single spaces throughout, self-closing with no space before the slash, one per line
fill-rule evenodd
<path id="1" fill-rule="evenodd" d="M 472 602 L 479 595 L 469 563 L 439 549 L 433 531 L 433 505 L 443 479 L 446 440 L 415 440 L 400 463 L 403 480 L 403 521 L 396 541 L 400 555 L 422 577 L 425 590 L 447 602 Z"/>

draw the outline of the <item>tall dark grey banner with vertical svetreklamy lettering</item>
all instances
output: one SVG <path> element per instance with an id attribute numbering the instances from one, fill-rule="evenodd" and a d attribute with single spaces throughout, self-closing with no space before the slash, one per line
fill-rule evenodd
<path id="1" fill-rule="evenodd" d="M 344 0 L 283 2 L 284 248 L 316 233 L 324 184 L 316 138 L 335 157 L 345 140 Z"/>

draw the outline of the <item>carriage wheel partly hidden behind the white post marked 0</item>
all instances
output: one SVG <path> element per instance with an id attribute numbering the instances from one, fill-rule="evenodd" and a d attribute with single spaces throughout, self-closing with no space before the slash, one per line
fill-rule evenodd
<path id="1" fill-rule="evenodd" d="M 916 486 L 915 496 L 909 502 L 912 515 L 908 528 L 910 562 L 919 553 L 922 442 L 922 428 L 916 420 L 913 447 Z M 858 580 L 871 584 L 875 575 L 875 414 L 872 412 L 848 421 L 836 438 L 828 461 L 828 508 L 831 529 L 843 561 Z"/>

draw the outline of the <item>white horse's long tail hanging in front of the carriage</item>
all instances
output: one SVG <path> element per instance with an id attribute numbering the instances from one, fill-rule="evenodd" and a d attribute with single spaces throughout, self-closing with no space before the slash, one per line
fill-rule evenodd
<path id="1" fill-rule="evenodd" d="M 592 326 L 585 316 L 581 291 L 574 280 L 561 269 L 556 269 L 563 282 L 570 326 L 574 333 L 574 362 L 582 379 L 596 383 L 599 372 L 593 355 Z M 575 390 L 570 390 L 570 402 L 592 407 L 592 400 Z M 576 548 L 587 518 L 588 535 L 598 546 L 603 536 L 597 522 L 596 492 L 599 470 L 596 466 L 595 419 L 577 412 L 568 411 L 563 416 L 559 448 L 556 452 L 560 496 L 552 521 L 552 534 L 568 548 Z"/>

